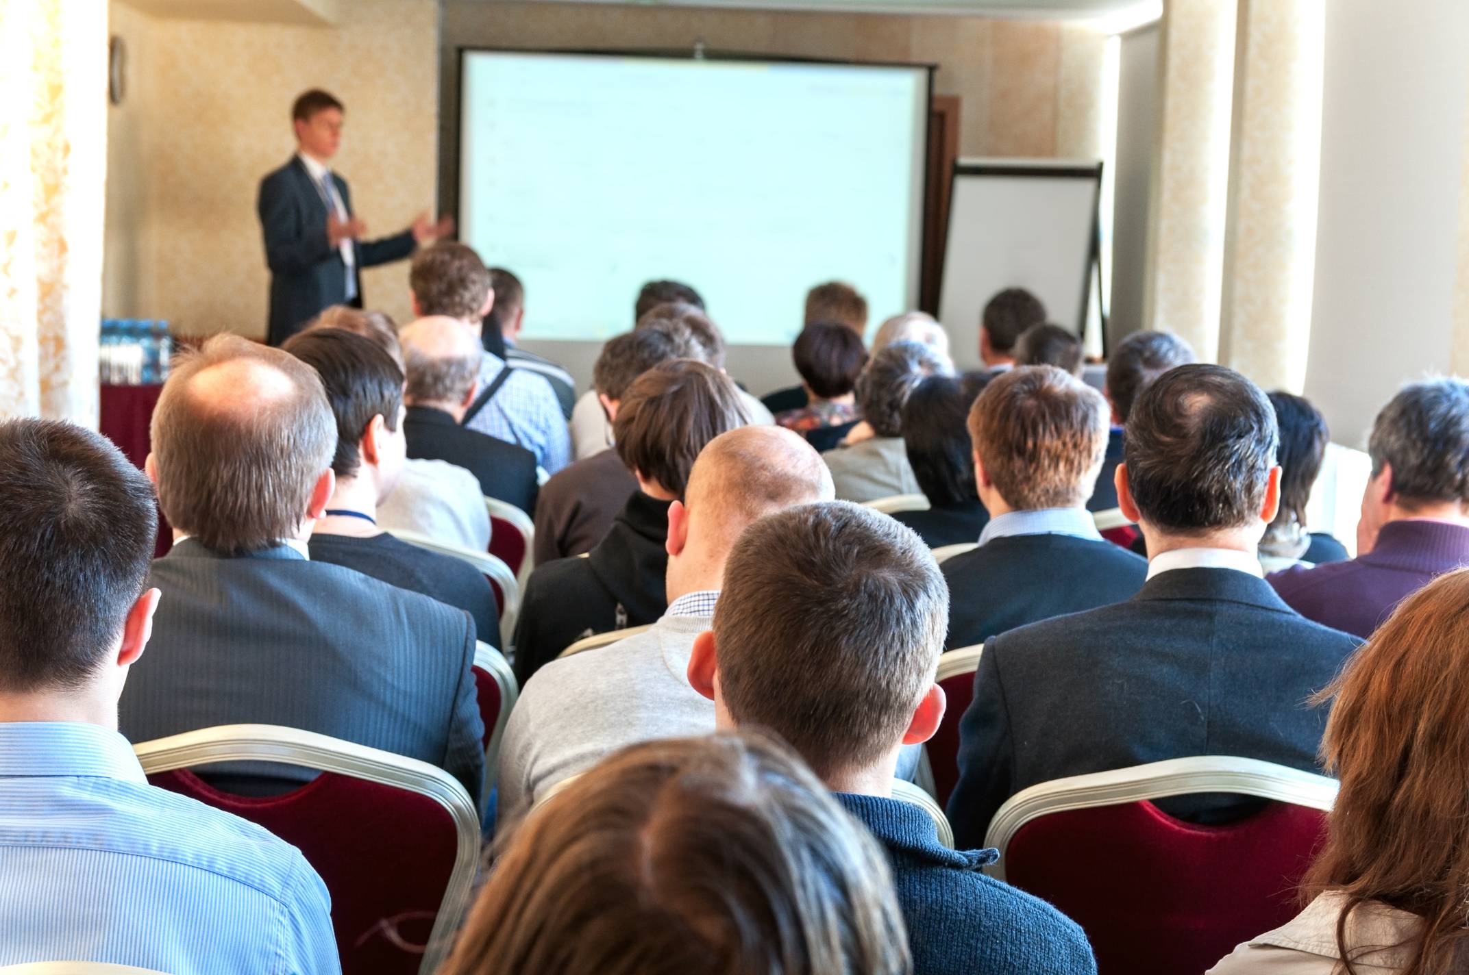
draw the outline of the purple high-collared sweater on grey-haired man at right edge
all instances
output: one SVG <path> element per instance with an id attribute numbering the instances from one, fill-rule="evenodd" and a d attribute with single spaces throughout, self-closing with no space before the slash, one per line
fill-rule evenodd
<path id="1" fill-rule="evenodd" d="M 1366 555 L 1315 568 L 1296 565 L 1266 581 L 1307 620 L 1366 639 L 1398 602 L 1460 565 L 1469 565 L 1469 527 L 1388 521 Z"/>

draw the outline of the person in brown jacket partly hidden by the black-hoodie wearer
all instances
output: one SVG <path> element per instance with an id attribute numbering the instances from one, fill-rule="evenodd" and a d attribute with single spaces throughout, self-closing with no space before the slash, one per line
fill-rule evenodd
<path id="1" fill-rule="evenodd" d="M 611 421 L 635 379 L 660 363 L 702 355 L 704 347 L 687 326 L 654 322 L 602 347 L 592 369 L 592 388 Z M 592 454 L 557 473 L 536 502 L 536 565 L 591 552 L 635 493 L 638 479 L 617 451 Z"/>

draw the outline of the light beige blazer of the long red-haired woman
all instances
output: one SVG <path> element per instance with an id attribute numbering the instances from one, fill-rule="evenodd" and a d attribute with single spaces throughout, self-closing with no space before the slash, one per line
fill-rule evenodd
<path id="1" fill-rule="evenodd" d="M 1335 975 L 1343 971 L 1337 916 L 1344 905 L 1343 894 L 1316 897 L 1290 924 L 1246 941 L 1206 975 Z M 1357 975 L 1401 972 L 1413 957 L 1412 944 L 1403 943 L 1421 928 L 1422 921 L 1406 910 L 1376 902 L 1359 906 L 1347 921 L 1347 949 Z M 1366 950 L 1359 953 L 1359 947 Z"/>

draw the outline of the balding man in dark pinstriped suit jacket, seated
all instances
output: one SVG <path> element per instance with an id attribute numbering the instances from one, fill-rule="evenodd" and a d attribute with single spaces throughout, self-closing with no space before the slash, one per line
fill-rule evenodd
<path id="1" fill-rule="evenodd" d="M 147 471 L 175 545 L 153 564 L 163 598 L 122 692 L 123 734 L 282 724 L 430 762 L 479 796 L 473 620 L 307 555 L 335 483 L 336 423 L 316 370 L 214 336 L 175 360 L 151 438 Z M 206 778 L 269 794 L 310 771 Z"/>

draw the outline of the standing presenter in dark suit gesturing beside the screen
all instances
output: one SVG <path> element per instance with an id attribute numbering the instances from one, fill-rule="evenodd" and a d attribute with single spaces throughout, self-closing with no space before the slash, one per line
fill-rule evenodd
<path id="1" fill-rule="evenodd" d="M 295 156 L 260 181 L 256 210 L 270 267 L 267 341 L 279 345 L 328 305 L 360 308 L 361 269 L 407 257 L 420 244 L 454 232 L 454 220 L 413 226 L 379 241 L 360 239 L 367 225 L 353 216 L 347 181 L 328 169 L 342 139 L 342 103 L 325 91 L 303 93 L 291 106 Z"/>

